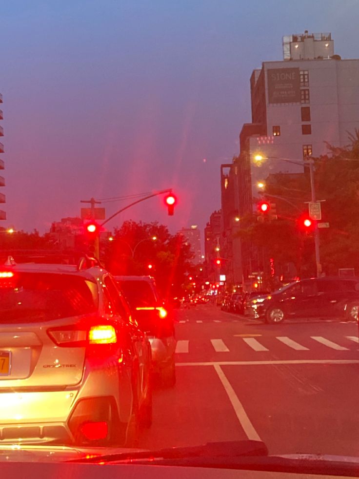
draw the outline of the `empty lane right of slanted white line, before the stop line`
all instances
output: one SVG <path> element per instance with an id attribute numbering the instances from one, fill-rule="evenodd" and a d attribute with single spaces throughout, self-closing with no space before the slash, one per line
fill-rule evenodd
<path id="1" fill-rule="evenodd" d="M 359 456 L 359 365 L 221 366 L 270 454 Z"/>

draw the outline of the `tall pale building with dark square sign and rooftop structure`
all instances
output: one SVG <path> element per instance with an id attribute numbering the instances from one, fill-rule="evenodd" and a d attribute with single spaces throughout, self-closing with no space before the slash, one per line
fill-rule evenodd
<path id="1" fill-rule="evenodd" d="M 326 154 L 326 142 L 346 146 L 359 128 L 359 60 L 335 55 L 330 33 L 286 36 L 283 53 L 283 61 L 263 62 L 250 80 L 252 123 L 243 125 L 241 156 L 253 196 L 269 173 L 303 171 L 279 159 Z M 257 154 L 271 159 L 255 167 Z"/>

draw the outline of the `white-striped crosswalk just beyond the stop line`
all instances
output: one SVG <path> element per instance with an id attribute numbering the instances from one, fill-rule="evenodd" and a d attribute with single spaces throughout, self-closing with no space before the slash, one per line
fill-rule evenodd
<path id="1" fill-rule="evenodd" d="M 235 339 L 230 338 L 229 340 L 223 340 L 220 338 L 208 339 L 205 340 L 210 345 L 212 351 L 216 353 L 230 353 L 236 352 L 241 348 L 259 352 L 268 352 L 272 350 L 277 350 L 278 345 L 284 345 L 290 350 L 295 351 L 311 351 L 320 345 L 320 347 L 328 348 L 329 350 L 334 351 L 353 351 L 355 348 L 353 343 L 356 345 L 359 344 L 358 336 L 342 336 L 336 338 L 336 341 L 327 339 L 323 336 L 308 336 L 307 338 L 302 339 L 301 344 L 298 341 L 288 337 L 288 336 L 274 336 L 274 337 L 263 337 L 263 338 L 254 338 L 254 337 L 236 337 Z M 186 354 L 191 352 L 191 346 L 194 348 L 198 347 L 196 345 L 196 339 L 189 341 L 188 339 L 179 339 L 176 345 L 177 354 Z"/>

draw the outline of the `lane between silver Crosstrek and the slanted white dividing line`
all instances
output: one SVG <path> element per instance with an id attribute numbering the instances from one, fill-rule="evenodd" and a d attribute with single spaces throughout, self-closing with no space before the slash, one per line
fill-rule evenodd
<path id="1" fill-rule="evenodd" d="M 141 431 L 140 447 L 158 449 L 247 438 L 213 367 L 178 367 L 176 375 L 174 388 L 155 388 L 152 426 Z"/>

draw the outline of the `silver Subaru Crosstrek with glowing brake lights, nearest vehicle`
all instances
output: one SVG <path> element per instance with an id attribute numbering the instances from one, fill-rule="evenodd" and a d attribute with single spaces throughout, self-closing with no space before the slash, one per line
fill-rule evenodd
<path id="1" fill-rule="evenodd" d="M 0 267 L 0 444 L 130 444 L 150 425 L 150 344 L 95 261 Z"/>

